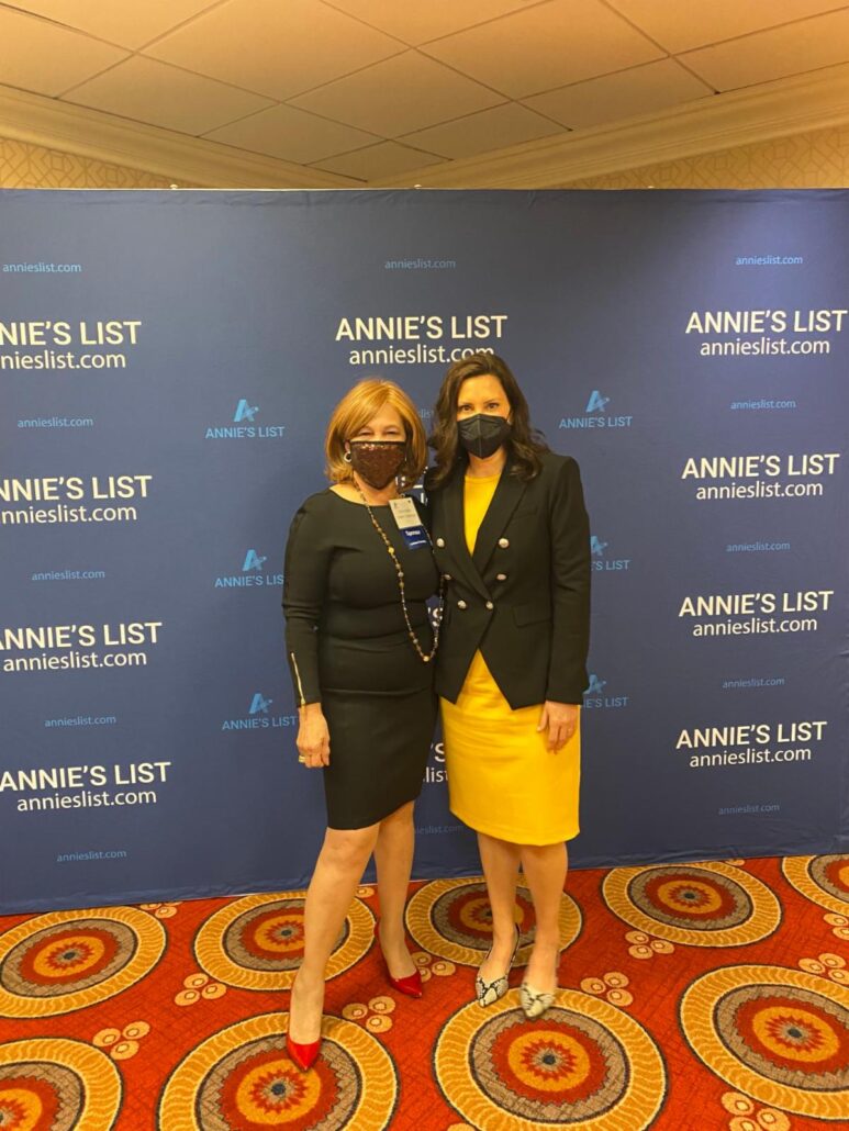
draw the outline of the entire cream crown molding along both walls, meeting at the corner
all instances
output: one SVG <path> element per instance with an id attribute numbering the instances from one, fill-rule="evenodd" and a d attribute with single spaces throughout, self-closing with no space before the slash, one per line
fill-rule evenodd
<path id="1" fill-rule="evenodd" d="M 363 184 L 0 85 L 0 137 L 204 188 L 560 188 L 849 123 L 849 63 Z"/>

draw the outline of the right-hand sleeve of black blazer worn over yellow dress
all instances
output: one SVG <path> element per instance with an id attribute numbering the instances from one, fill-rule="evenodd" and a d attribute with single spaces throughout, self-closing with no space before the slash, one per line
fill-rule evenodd
<path id="1" fill-rule="evenodd" d="M 580 703 L 589 682 L 590 520 L 581 472 L 571 457 L 558 469 L 549 520 L 554 633 L 546 698 Z"/>

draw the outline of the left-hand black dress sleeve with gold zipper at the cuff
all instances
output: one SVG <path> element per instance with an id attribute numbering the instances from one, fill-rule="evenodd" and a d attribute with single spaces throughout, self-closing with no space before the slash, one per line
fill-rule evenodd
<path id="1" fill-rule="evenodd" d="M 320 702 L 318 622 L 327 597 L 333 547 L 326 524 L 301 507 L 292 519 L 283 564 L 283 613 L 286 619 L 286 659 L 299 707 Z"/>

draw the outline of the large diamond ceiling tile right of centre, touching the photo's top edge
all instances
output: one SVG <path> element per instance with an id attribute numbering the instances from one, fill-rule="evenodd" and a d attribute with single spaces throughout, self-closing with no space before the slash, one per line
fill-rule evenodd
<path id="1" fill-rule="evenodd" d="M 600 0 L 549 0 L 421 50 L 512 97 L 664 54 Z"/>

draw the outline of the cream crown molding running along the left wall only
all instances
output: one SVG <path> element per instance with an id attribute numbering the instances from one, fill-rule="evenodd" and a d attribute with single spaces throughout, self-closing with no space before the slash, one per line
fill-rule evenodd
<path id="1" fill-rule="evenodd" d="M 0 137 L 208 188 L 338 189 L 362 182 L 0 86 Z"/>

